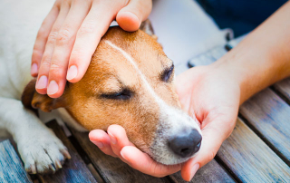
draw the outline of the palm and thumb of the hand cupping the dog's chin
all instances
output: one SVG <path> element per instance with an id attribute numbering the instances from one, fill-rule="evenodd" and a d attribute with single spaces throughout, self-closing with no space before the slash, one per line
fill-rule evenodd
<path id="1" fill-rule="evenodd" d="M 202 167 L 213 159 L 234 129 L 240 91 L 237 82 L 211 66 L 183 72 L 177 77 L 176 87 L 183 110 L 201 123 L 203 136 L 198 155 L 182 168 L 182 177 L 188 178 L 193 164 Z"/>

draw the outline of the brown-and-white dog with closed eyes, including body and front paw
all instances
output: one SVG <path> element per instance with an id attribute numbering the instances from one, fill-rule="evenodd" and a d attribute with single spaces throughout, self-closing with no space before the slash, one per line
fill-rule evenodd
<path id="1" fill-rule="evenodd" d="M 157 43 L 149 21 L 133 33 L 111 27 L 82 80 L 67 82 L 63 95 L 52 99 L 35 92 L 30 76 L 35 23 L 46 14 L 39 8 L 43 2 L 2 4 L 0 128 L 12 134 L 27 172 L 55 171 L 70 159 L 62 141 L 31 108 L 57 110 L 80 131 L 119 124 L 136 147 L 162 164 L 179 164 L 198 152 L 202 140 L 198 121 L 180 108 L 174 64 Z"/>

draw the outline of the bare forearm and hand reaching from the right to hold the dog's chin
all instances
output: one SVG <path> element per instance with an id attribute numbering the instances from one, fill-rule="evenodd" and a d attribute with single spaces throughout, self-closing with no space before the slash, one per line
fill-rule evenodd
<path id="1" fill-rule="evenodd" d="M 234 130 L 238 107 L 256 92 L 290 76 L 289 17 L 290 2 L 287 2 L 216 63 L 191 68 L 177 77 L 183 110 L 201 123 L 203 140 L 194 158 L 182 165 L 162 165 L 135 148 L 118 125 L 111 125 L 108 133 L 92 130 L 90 140 L 133 169 L 155 177 L 181 169 L 182 178 L 189 181 L 215 157 Z"/>

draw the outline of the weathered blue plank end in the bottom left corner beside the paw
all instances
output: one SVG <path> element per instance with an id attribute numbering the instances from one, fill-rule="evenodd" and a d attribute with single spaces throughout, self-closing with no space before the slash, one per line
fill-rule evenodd
<path id="1" fill-rule="evenodd" d="M 32 182 L 9 140 L 0 143 L 0 182 Z"/>

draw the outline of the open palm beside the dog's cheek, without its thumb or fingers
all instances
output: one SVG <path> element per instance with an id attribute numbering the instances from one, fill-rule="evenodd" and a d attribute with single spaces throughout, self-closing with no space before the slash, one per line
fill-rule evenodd
<path id="1" fill-rule="evenodd" d="M 237 118 L 237 83 L 219 72 L 212 72 L 210 67 L 201 66 L 183 72 L 177 77 L 176 87 L 183 110 L 202 122 L 201 128 L 207 125 L 205 122 L 216 118 Z"/>

